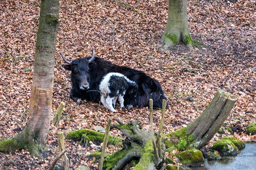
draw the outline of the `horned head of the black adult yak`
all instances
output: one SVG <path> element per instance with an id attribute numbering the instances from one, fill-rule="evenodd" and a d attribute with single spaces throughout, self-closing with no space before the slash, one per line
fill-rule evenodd
<path id="1" fill-rule="evenodd" d="M 71 80 L 73 86 L 78 85 L 78 88 L 81 90 L 87 90 L 90 88 L 90 66 L 95 59 L 95 51 L 93 50 L 93 56 L 91 59 L 81 58 L 74 59 L 72 62 L 65 59 L 62 51 L 60 51 L 62 59 L 67 63 L 64 65 L 66 70 L 71 71 Z"/>

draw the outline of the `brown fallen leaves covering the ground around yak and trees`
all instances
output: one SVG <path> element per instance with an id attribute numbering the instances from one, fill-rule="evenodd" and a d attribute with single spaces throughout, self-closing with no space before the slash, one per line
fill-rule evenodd
<path id="1" fill-rule="evenodd" d="M 59 50 L 72 60 L 91 56 L 95 49 L 100 58 L 142 70 L 159 80 L 170 103 L 163 133 L 187 126 L 219 89 L 228 91 L 238 100 L 222 126 L 223 135 L 255 141 L 255 136 L 245 134 L 245 127 L 256 122 L 256 1 L 187 3 L 191 36 L 203 43 L 192 50 L 182 44 L 164 49 L 160 44 L 168 1 L 60 1 L 52 119 L 63 101 L 66 108 L 62 120 L 58 127 L 50 127 L 40 158 L 32 157 L 27 150 L 16 150 L 0 154 L 0 167 L 48 169 L 58 153 L 57 132 L 66 135 L 81 128 L 106 128 L 110 117 L 119 117 L 124 122 L 139 119 L 143 129 L 150 129 L 148 108 L 112 113 L 93 102 L 77 104 L 71 100 L 70 73 L 62 67 Z M 0 4 L 0 138 L 18 134 L 28 119 L 39 11 L 38 0 L 8 0 Z M 153 121 L 159 124 L 159 110 L 154 110 Z M 122 137 L 116 129 L 110 135 Z M 221 136 L 217 133 L 209 146 Z M 86 155 L 100 146 L 90 144 L 91 148 L 65 140 L 70 167 L 85 165 L 97 169 L 98 162 Z M 108 146 L 106 152 L 113 153 L 119 148 Z M 59 160 L 55 169 L 61 166 Z"/>

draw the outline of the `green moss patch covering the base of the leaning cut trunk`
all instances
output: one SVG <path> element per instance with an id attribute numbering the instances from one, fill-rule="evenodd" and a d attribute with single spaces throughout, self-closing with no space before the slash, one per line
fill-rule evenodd
<path id="1" fill-rule="evenodd" d="M 163 135 L 163 137 L 168 138 L 164 141 L 168 152 L 171 152 L 173 149 L 182 151 L 193 148 L 196 144 L 195 137 L 193 135 L 189 135 L 186 129 L 187 127 L 183 127 L 179 130 Z"/>

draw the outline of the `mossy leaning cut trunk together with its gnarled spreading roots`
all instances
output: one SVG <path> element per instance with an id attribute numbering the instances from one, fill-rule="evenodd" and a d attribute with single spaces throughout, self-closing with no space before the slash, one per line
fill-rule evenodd
<path id="1" fill-rule="evenodd" d="M 142 130 L 139 122 L 131 121 L 123 124 L 121 120 L 117 119 L 119 125 L 112 125 L 112 128 L 119 129 L 127 138 L 123 141 L 123 148 L 108 156 L 103 166 L 106 170 L 117 170 L 129 162 L 139 159 L 134 170 L 154 170 L 164 162 L 166 149 L 170 152 L 173 149 L 180 151 L 200 149 L 222 126 L 235 102 L 236 99 L 233 95 L 219 90 L 206 110 L 189 126 L 162 135 L 160 148 L 156 148 L 155 139 L 152 140 L 152 133 Z M 160 152 L 159 149 L 161 149 Z M 156 154 L 156 150 L 158 150 L 158 154 Z"/>

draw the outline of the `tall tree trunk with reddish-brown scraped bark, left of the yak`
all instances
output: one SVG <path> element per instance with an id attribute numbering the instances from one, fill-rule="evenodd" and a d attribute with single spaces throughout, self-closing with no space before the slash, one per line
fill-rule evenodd
<path id="1" fill-rule="evenodd" d="M 52 113 L 53 71 L 59 17 L 59 0 L 42 0 L 37 31 L 31 105 L 27 126 L 0 143 L 0 151 L 28 148 L 37 154 L 48 135 Z M 6 147 L 7 146 L 7 147 Z M 4 148 L 6 147 L 6 148 Z"/>

